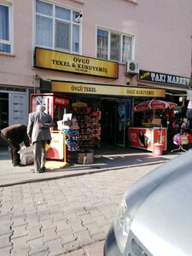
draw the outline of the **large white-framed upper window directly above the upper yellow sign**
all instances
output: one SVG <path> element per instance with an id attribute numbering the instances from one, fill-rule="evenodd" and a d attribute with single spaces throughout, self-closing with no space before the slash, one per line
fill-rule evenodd
<path id="1" fill-rule="evenodd" d="M 79 11 L 36 1 L 36 45 L 79 53 Z"/>

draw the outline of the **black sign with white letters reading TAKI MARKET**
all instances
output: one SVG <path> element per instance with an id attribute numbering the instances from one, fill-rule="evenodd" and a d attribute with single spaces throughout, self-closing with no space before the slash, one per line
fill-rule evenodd
<path id="1" fill-rule="evenodd" d="M 139 80 L 162 83 L 162 84 L 178 84 L 178 85 L 190 85 L 190 79 L 184 77 L 178 77 L 166 73 L 155 73 L 151 71 L 140 70 Z"/>

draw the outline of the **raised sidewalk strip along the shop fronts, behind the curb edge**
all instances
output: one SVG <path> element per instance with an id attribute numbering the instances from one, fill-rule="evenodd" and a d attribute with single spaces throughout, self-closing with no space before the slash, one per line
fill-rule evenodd
<path id="1" fill-rule="evenodd" d="M 154 156 L 152 152 L 138 148 L 117 148 L 110 146 L 103 150 L 96 149 L 94 151 L 94 163 L 91 165 L 74 164 L 62 169 L 48 169 L 44 173 L 31 173 L 33 166 L 12 166 L 8 148 L 0 148 L 0 187 L 61 177 L 80 176 L 96 172 L 107 172 L 133 166 L 153 165 L 171 160 L 178 154 L 183 154 L 183 151 Z"/>

